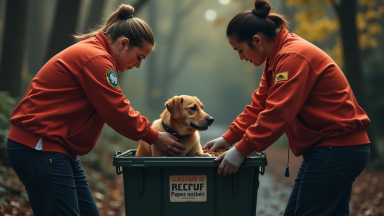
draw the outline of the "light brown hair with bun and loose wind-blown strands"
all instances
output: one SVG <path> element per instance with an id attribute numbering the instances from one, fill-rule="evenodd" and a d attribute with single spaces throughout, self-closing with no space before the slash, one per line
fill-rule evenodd
<path id="1" fill-rule="evenodd" d="M 154 45 L 154 36 L 149 25 L 140 18 L 126 17 L 132 15 L 133 12 L 134 9 L 131 5 L 120 4 L 118 9 L 106 19 L 104 25 L 91 29 L 88 33 L 73 36 L 83 40 L 102 31 L 106 36 L 110 36 L 113 41 L 120 36 L 125 36 L 129 39 L 130 47 L 144 47 L 146 42 Z"/>

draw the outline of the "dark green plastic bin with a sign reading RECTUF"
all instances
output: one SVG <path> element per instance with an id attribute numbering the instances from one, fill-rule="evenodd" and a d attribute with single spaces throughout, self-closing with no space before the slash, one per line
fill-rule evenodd
<path id="1" fill-rule="evenodd" d="M 113 157 L 116 173 L 123 174 L 126 215 L 240 216 L 256 214 L 258 174 L 264 173 L 264 167 L 267 164 L 264 152 L 254 157 L 246 157 L 236 173 L 226 176 L 217 175 L 220 162 L 213 161 L 215 157 L 136 157 L 135 153 L 136 150 L 123 153 L 117 151 Z M 191 181 L 190 183 L 173 182 L 171 180 L 179 179 L 177 176 L 174 178 L 174 175 L 188 175 L 188 180 Z M 199 178 L 201 175 L 206 176 L 202 185 L 202 181 L 193 181 L 194 179 L 202 180 L 203 178 Z M 200 187 L 197 189 L 199 191 L 194 190 L 193 186 L 198 187 L 199 183 Z M 170 190 L 170 184 L 173 190 Z M 193 185 L 189 186 L 189 184 Z M 201 193 L 201 191 L 204 192 L 204 187 L 206 193 Z M 178 191 L 177 189 L 180 188 L 182 190 Z M 182 198 L 182 196 L 176 198 L 175 192 L 203 194 L 203 196 L 185 196 L 184 198 L 190 200 L 205 198 L 206 201 L 171 202 L 170 194 L 174 194 L 172 199 Z"/>

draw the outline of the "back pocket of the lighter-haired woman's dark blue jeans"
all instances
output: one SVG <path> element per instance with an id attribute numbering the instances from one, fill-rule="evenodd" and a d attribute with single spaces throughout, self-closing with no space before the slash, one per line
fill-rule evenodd
<path id="1" fill-rule="evenodd" d="M 9 163 L 24 185 L 34 178 L 31 150 L 33 149 L 26 145 L 9 139 L 7 141 L 6 155 Z"/>

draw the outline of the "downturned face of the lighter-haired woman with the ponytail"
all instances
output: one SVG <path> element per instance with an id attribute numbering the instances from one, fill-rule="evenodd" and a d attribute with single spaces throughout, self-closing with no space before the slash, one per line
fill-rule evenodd
<path id="1" fill-rule="evenodd" d="M 153 46 L 149 43 L 141 47 L 129 47 L 129 40 L 122 38 L 118 44 L 119 56 L 116 59 L 117 68 L 119 71 L 124 72 L 125 70 L 132 69 L 133 67 L 140 67 L 142 59 L 145 59 L 153 49 Z M 117 57 L 117 56 L 116 56 Z"/>

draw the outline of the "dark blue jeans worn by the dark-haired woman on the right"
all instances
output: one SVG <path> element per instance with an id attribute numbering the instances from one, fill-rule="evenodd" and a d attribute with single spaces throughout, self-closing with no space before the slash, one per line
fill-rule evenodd
<path id="1" fill-rule="evenodd" d="M 318 146 L 302 157 L 284 216 L 349 215 L 352 182 L 368 161 L 369 144 Z"/>

